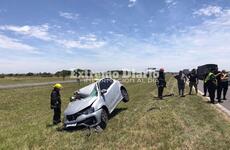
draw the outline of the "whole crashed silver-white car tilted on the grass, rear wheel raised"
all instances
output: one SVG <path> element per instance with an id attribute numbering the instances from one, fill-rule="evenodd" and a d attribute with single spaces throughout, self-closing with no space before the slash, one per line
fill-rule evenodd
<path id="1" fill-rule="evenodd" d="M 104 129 L 108 115 L 120 101 L 128 102 L 126 88 L 119 81 L 104 78 L 75 92 L 64 111 L 64 127 L 99 125 Z"/>

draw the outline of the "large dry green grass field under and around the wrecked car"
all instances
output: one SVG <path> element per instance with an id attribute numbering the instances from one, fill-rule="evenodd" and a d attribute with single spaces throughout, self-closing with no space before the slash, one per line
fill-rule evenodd
<path id="1" fill-rule="evenodd" d="M 177 94 L 176 81 L 168 80 L 165 94 Z M 157 100 L 153 83 L 125 85 L 130 102 L 119 104 L 105 131 L 90 136 L 51 125 L 51 86 L 1 90 L 0 149 L 230 149 L 230 121 L 201 97 Z M 62 110 L 77 88 L 64 84 Z"/>

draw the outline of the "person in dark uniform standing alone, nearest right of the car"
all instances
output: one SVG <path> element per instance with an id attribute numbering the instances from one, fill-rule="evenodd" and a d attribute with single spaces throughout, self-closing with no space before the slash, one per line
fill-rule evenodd
<path id="1" fill-rule="evenodd" d="M 166 87 L 165 73 L 163 68 L 161 68 L 159 71 L 159 77 L 157 78 L 157 87 L 158 87 L 158 98 L 163 99 L 163 92 L 164 92 L 164 88 Z"/>

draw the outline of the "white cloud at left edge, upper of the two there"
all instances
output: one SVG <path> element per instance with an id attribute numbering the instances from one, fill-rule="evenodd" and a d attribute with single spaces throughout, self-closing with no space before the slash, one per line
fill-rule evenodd
<path id="1" fill-rule="evenodd" d="M 0 30 L 13 31 L 18 34 L 27 35 L 30 37 L 35 37 L 41 40 L 49 41 L 51 37 L 49 36 L 48 30 L 49 26 L 47 24 L 41 26 L 14 26 L 14 25 L 3 25 L 0 26 Z"/>

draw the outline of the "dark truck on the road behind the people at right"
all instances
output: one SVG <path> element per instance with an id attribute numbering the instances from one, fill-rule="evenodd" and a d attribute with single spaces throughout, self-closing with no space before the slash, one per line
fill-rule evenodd
<path id="1" fill-rule="evenodd" d="M 218 65 L 216 64 L 206 64 L 203 66 L 198 66 L 197 75 L 199 80 L 203 80 L 204 76 L 212 69 L 218 70 Z"/>

